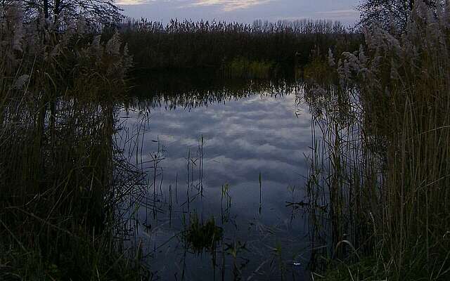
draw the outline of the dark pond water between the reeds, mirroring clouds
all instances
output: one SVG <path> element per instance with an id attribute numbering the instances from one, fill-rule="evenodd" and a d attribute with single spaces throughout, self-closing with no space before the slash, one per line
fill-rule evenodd
<path id="1" fill-rule="evenodd" d="M 287 206 L 303 200 L 311 145 L 299 89 L 183 76 L 134 90 L 122 146 L 147 181 L 132 244 L 155 280 L 309 280 L 306 216 Z M 195 216 L 223 230 L 213 249 L 186 242 Z"/>

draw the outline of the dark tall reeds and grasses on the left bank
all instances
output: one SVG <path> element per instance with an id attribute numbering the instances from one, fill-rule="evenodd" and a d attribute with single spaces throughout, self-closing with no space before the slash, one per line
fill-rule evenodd
<path id="1" fill-rule="evenodd" d="M 139 279 L 115 211 L 139 178 L 113 139 L 127 48 L 19 2 L 0 18 L 0 279 Z"/>

